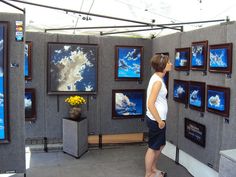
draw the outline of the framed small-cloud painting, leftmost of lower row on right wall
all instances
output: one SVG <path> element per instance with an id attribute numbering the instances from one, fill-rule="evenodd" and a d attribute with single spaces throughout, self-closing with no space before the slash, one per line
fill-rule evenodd
<path id="1" fill-rule="evenodd" d="M 188 81 L 174 79 L 174 100 L 187 104 L 188 103 Z"/>

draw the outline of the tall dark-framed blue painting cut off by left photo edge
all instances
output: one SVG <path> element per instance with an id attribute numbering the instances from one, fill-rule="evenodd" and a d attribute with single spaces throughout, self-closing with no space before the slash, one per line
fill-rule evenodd
<path id="1" fill-rule="evenodd" d="M 9 142 L 7 39 L 8 22 L 0 21 L 0 143 Z"/>

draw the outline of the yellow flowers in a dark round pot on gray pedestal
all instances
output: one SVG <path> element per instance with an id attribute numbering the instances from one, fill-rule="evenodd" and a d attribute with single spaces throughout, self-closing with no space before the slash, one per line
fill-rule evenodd
<path id="1" fill-rule="evenodd" d="M 69 104 L 69 115 L 71 119 L 78 120 L 81 117 L 80 105 L 86 104 L 85 99 L 79 95 L 69 96 L 65 99 L 65 102 Z"/>

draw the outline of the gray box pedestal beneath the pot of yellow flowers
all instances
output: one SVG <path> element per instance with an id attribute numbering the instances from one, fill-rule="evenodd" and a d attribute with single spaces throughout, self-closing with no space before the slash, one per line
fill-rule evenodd
<path id="1" fill-rule="evenodd" d="M 80 158 L 88 151 L 88 121 L 86 117 L 63 118 L 63 152 Z"/>

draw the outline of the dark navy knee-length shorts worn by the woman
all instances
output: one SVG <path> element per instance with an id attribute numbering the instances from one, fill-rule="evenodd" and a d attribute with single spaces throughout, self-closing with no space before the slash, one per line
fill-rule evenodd
<path id="1" fill-rule="evenodd" d="M 157 121 L 146 116 L 148 132 L 148 147 L 153 150 L 160 150 L 166 144 L 166 126 L 163 129 L 158 127 Z"/>

